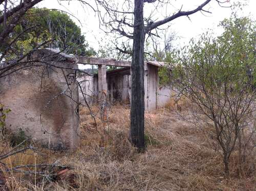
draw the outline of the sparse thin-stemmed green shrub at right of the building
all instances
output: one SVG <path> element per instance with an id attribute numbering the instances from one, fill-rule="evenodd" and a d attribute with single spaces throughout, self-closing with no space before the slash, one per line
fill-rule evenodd
<path id="1" fill-rule="evenodd" d="M 255 22 L 247 17 L 233 15 L 220 27 L 224 29 L 221 36 L 203 34 L 173 54 L 173 65 L 166 67 L 162 75 L 194 104 L 193 111 L 188 112 L 195 116 L 193 122 L 199 120 L 198 127 L 218 142 L 229 176 L 233 151 L 239 153 L 240 173 L 246 172 L 243 164 L 255 151 L 256 34 Z M 202 121 L 208 129 L 202 127 Z"/>

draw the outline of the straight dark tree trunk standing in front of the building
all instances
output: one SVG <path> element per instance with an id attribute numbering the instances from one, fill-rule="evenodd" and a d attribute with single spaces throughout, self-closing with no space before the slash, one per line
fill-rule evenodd
<path id="1" fill-rule="evenodd" d="M 134 33 L 131 95 L 131 140 L 144 151 L 144 22 L 143 0 L 134 0 Z"/>

